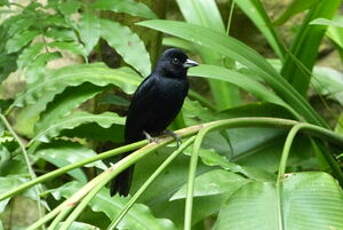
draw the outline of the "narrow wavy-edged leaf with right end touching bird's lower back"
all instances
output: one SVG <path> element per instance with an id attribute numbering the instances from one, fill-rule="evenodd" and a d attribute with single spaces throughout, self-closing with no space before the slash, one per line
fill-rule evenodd
<path id="1" fill-rule="evenodd" d="M 113 124 L 124 125 L 124 122 L 125 119 L 123 117 L 119 117 L 116 113 L 112 112 L 91 114 L 77 111 L 55 121 L 53 125 L 42 127 L 31 141 L 49 142 L 51 138 L 58 136 L 62 130 L 73 129 L 85 123 L 97 123 L 103 128 L 109 128 Z"/>

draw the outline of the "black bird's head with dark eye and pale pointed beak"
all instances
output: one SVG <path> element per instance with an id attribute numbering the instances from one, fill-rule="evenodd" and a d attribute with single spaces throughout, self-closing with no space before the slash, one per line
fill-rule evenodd
<path id="1" fill-rule="evenodd" d="M 163 52 L 155 71 L 170 78 L 185 78 L 187 69 L 197 65 L 198 63 L 189 59 L 183 51 L 172 48 Z"/>

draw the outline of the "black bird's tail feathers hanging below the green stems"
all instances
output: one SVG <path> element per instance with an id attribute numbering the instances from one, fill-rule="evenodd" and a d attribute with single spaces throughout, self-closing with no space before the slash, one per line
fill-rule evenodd
<path id="1" fill-rule="evenodd" d="M 124 157 L 126 157 L 129 153 L 124 154 Z M 132 183 L 132 177 L 133 177 L 133 171 L 135 169 L 135 166 L 132 165 L 129 168 L 125 169 L 123 172 L 121 172 L 116 178 L 114 178 L 111 181 L 110 185 L 110 194 L 111 196 L 115 195 L 116 193 L 119 193 L 119 195 L 127 196 L 130 191 L 131 183 Z"/>

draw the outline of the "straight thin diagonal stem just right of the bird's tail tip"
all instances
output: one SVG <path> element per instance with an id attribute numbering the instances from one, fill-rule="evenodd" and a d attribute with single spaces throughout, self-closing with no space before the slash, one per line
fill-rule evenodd
<path id="1" fill-rule="evenodd" d="M 107 230 L 114 230 L 114 228 L 120 223 L 126 213 L 130 210 L 132 205 L 138 200 L 138 198 L 145 192 L 150 184 L 161 174 L 161 172 L 190 144 L 193 143 L 195 136 L 189 138 L 184 144 L 174 151 L 156 170 L 155 172 L 144 182 L 144 184 L 138 189 L 133 197 L 125 204 L 119 215 L 112 221 L 107 227 Z"/>

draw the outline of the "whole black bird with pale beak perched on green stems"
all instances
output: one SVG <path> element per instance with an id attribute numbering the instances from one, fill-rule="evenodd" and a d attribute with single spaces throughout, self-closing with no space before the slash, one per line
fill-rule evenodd
<path id="1" fill-rule="evenodd" d="M 138 86 L 133 95 L 125 124 L 125 143 L 151 139 L 162 134 L 179 113 L 189 84 L 187 69 L 198 63 L 179 49 L 167 49 L 154 71 Z M 127 156 L 130 153 L 124 154 Z M 134 166 L 112 181 L 111 195 L 128 195 Z"/>

